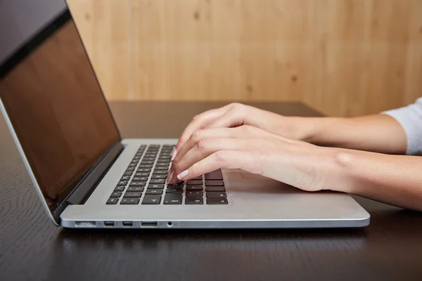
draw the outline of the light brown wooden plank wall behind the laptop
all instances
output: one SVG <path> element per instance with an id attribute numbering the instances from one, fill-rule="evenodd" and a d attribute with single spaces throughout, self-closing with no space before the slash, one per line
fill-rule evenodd
<path id="1" fill-rule="evenodd" d="M 295 100 L 355 116 L 422 96 L 421 0 L 68 0 L 109 100 Z"/>

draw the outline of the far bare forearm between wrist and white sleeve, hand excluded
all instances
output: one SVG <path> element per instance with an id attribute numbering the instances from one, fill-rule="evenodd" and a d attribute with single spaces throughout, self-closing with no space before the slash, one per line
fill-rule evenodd
<path id="1" fill-rule="evenodd" d="M 357 118 L 288 117 L 302 141 L 335 148 L 404 154 L 407 137 L 402 126 L 388 115 Z"/>

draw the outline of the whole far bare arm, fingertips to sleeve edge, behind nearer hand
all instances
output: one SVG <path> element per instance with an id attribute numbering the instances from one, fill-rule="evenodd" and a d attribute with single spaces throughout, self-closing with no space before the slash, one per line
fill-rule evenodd
<path id="1" fill-rule="evenodd" d="M 404 154 L 406 133 L 388 115 L 357 118 L 285 117 L 240 103 L 231 103 L 193 117 L 179 138 L 172 158 L 194 131 L 211 128 L 255 126 L 286 138 L 335 148 Z"/>

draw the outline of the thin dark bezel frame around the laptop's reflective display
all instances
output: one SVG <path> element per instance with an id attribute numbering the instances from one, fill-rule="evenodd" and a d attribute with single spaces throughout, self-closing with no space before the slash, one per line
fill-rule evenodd
<path id="1" fill-rule="evenodd" d="M 46 41 L 46 39 L 49 39 L 51 35 L 55 34 L 60 29 L 60 27 L 63 27 L 63 25 L 65 25 L 70 20 L 73 20 L 72 14 L 70 13 L 69 9 L 66 7 L 65 9 L 63 9 L 62 12 L 60 12 L 60 14 L 58 14 L 55 18 L 53 18 L 53 20 L 48 22 L 39 32 L 34 34 L 32 37 L 30 37 L 30 39 L 28 39 L 20 47 L 18 47 L 17 51 L 14 51 L 13 53 L 11 53 L 11 55 L 8 55 L 8 57 L 0 65 L 0 79 L 4 77 L 8 72 L 13 70 L 13 68 L 16 65 L 19 65 L 20 61 L 26 58 L 27 55 L 30 55 L 33 51 L 37 50 L 37 48 L 44 41 Z M 74 24 L 75 24 L 75 21 L 74 21 Z M 77 30 L 77 35 L 79 36 L 79 40 L 82 43 L 82 48 L 84 49 L 84 52 L 87 54 L 87 50 L 84 46 L 84 42 L 82 41 L 82 37 L 80 36 L 79 30 L 76 24 L 75 24 L 75 27 Z M 41 203 L 43 204 L 44 209 L 46 210 L 47 214 L 53 220 L 53 223 L 56 226 L 60 226 L 60 214 L 65 209 L 65 207 L 68 206 L 68 204 L 82 204 L 84 200 L 86 200 L 87 198 L 81 198 L 81 195 L 85 195 L 85 196 L 90 195 L 92 190 L 94 190 L 98 181 L 102 178 L 103 174 L 105 174 L 105 172 L 109 168 L 109 165 L 106 165 L 106 166 L 100 165 L 101 162 L 103 160 L 106 160 L 105 162 L 108 162 L 111 164 L 111 162 L 114 161 L 115 157 L 117 157 L 117 155 L 120 154 L 122 150 L 122 145 L 120 143 L 120 141 L 122 140 L 122 137 L 121 137 L 120 131 L 117 128 L 117 124 L 110 110 L 110 107 L 107 103 L 106 97 L 104 96 L 104 92 L 103 92 L 103 89 L 101 88 L 101 84 L 99 84 L 98 77 L 96 75 L 94 67 L 92 66 L 92 63 L 88 54 L 87 54 L 87 59 L 92 71 L 94 72 L 94 78 L 96 79 L 96 83 L 98 84 L 98 87 L 101 91 L 101 95 L 103 96 L 103 99 L 106 103 L 108 112 L 110 112 L 110 117 L 113 120 L 113 124 L 115 126 L 115 130 L 117 131 L 118 138 L 117 138 L 116 143 L 113 143 L 112 145 L 110 145 L 110 148 L 108 148 L 106 153 L 101 155 L 101 157 L 99 157 L 97 161 L 94 162 L 94 164 L 90 167 L 87 173 L 82 175 L 81 180 L 73 188 L 71 188 L 67 194 L 64 194 L 63 197 L 61 197 L 61 201 L 57 202 L 55 209 L 51 209 L 49 207 L 49 204 L 46 202 L 46 199 L 37 182 L 37 178 L 35 178 L 34 173 L 32 172 L 31 166 L 27 160 L 27 157 L 25 156 L 23 147 L 20 144 L 19 138 L 17 134 L 15 133 L 15 130 L 13 129 L 11 119 L 8 117 L 6 107 L 4 107 L 4 104 L 0 96 L 0 110 L 4 115 L 4 119 L 6 121 L 9 131 L 11 131 L 13 141 L 15 141 L 15 145 L 18 148 L 18 151 L 20 153 L 20 156 L 23 159 L 23 162 L 25 164 L 25 167 L 28 173 L 30 174 L 30 178 L 32 180 L 32 183 L 34 184 L 34 187 L 37 190 L 37 193 L 39 195 L 39 198 L 41 199 Z M 95 176 L 93 176 L 92 174 L 95 174 Z M 84 183 L 84 181 L 87 179 L 89 179 L 90 186 L 87 186 L 87 185 L 83 186 L 82 183 Z M 81 192 L 78 189 L 84 189 L 84 190 L 82 190 Z M 78 190 L 79 192 L 75 192 L 76 190 Z M 70 197 L 72 196 L 72 194 L 75 194 L 75 193 L 77 193 L 78 198 L 76 200 L 70 200 Z"/>

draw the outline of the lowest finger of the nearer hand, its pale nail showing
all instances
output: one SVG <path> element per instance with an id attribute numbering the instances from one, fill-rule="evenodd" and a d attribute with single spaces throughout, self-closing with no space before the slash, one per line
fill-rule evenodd
<path id="1" fill-rule="evenodd" d="M 254 157 L 251 152 L 220 150 L 205 159 L 193 164 L 190 168 L 177 175 L 179 181 L 187 181 L 217 169 L 243 169 L 254 171 Z"/>

